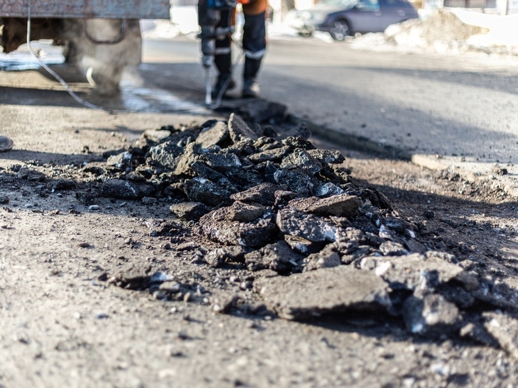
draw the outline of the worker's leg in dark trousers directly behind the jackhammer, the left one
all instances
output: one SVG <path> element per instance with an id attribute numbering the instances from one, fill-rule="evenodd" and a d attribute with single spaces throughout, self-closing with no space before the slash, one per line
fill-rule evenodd
<path id="1" fill-rule="evenodd" d="M 230 10 L 221 11 L 221 19 L 217 27 L 226 28 L 229 23 Z M 230 15 L 231 16 L 231 15 Z M 232 52 L 231 38 L 226 36 L 223 40 L 216 40 L 216 51 L 214 63 L 218 71 L 217 82 L 212 88 L 212 98 L 219 97 L 219 94 L 225 94 L 226 90 L 233 89 L 235 82 L 232 79 Z"/>

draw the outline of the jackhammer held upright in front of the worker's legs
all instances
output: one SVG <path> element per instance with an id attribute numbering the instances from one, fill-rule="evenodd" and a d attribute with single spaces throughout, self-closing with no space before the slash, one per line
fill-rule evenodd
<path id="1" fill-rule="evenodd" d="M 228 23 L 228 27 L 217 27 L 221 19 L 222 10 L 232 10 L 237 5 L 237 0 L 199 0 L 198 1 L 198 24 L 201 33 L 201 65 L 205 69 L 205 103 L 212 104 L 212 87 L 210 85 L 210 67 L 214 63 L 215 42 L 222 40 L 228 34 L 234 32 L 234 26 Z M 232 12 L 229 12 L 231 15 Z"/>

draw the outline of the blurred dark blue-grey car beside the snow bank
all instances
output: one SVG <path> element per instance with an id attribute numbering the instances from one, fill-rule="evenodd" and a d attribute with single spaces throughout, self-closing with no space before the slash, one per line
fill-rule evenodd
<path id="1" fill-rule="evenodd" d="M 308 10 L 290 10 L 287 24 L 300 35 L 324 31 L 334 40 L 344 40 L 347 35 L 382 32 L 390 24 L 418 17 L 408 0 L 322 0 Z"/>

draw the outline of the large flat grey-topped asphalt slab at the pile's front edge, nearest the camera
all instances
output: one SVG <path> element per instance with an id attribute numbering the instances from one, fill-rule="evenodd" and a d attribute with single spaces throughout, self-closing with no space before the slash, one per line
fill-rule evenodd
<path id="1" fill-rule="evenodd" d="M 295 321 L 324 314 L 385 313 L 392 306 L 387 284 L 381 278 L 371 271 L 346 266 L 260 278 L 254 287 L 269 309 Z"/>

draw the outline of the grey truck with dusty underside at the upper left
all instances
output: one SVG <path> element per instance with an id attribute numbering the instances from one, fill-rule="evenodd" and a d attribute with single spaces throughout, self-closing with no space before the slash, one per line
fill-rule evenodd
<path id="1" fill-rule="evenodd" d="M 65 62 L 85 71 L 102 95 L 119 90 L 122 71 L 142 58 L 141 19 L 169 19 L 169 0 L 3 0 L 0 46 L 52 40 Z"/>

